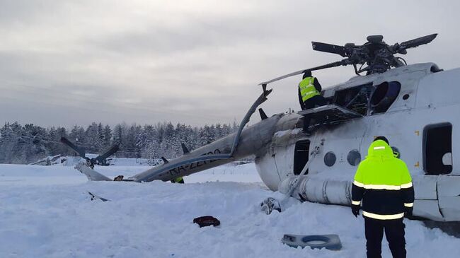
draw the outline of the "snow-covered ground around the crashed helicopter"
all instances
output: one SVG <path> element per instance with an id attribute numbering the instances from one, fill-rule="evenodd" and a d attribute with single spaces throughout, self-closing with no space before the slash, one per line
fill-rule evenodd
<path id="1" fill-rule="evenodd" d="M 146 167 L 97 167 L 110 177 Z M 269 191 L 253 164 L 169 182 L 87 182 L 71 167 L 0 165 L 0 257 L 365 257 L 364 221 L 350 208 L 289 199 L 265 215 Z M 112 201 L 91 201 L 87 191 Z M 219 218 L 199 228 L 197 216 Z M 460 239 L 406 221 L 408 257 L 460 257 Z M 284 233 L 338 234 L 340 251 L 295 249 Z M 384 240 L 384 257 L 391 257 Z"/>

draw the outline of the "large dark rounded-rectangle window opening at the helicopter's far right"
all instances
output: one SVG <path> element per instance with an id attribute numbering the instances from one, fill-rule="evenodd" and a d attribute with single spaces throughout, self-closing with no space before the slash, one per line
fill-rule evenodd
<path id="1" fill-rule="evenodd" d="M 452 124 L 430 124 L 423 130 L 423 168 L 427 175 L 452 172 Z"/>

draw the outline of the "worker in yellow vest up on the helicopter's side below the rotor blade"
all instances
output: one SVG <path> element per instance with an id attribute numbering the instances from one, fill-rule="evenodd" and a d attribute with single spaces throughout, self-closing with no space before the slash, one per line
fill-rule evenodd
<path id="1" fill-rule="evenodd" d="M 319 84 L 318 79 L 314 76 L 311 76 L 311 71 L 306 70 L 304 76 L 302 76 L 302 81 L 299 83 L 299 102 L 302 110 L 308 110 L 316 106 L 326 105 L 326 100 L 321 93 L 321 84 Z M 304 117 L 304 132 L 309 134 L 308 128 L 310 125 L 310 117 Z"/>

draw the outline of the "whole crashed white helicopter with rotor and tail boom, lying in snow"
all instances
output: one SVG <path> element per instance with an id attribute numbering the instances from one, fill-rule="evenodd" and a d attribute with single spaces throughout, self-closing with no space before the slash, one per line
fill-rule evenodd
<path id="1" fill-rule="evenodd" d="M 273 191 L 301 201 L 350 206 L 353 175 L 375 136 L 386 136 L 410 170 L 415 188 L 413 215 L 432 221 L 460 221 L 460 69 L 443 71 L 434 63 L 408 65 L 396 54 L 425 45 L 437 34 L 388 45 L 383 36 L 367 37 L 363 45 L 312 42 L 313 49 L 344 59 L 303 69 L 260 83 L 263 93 L 241 121 L 239 130 L 188 151 L 173 160 L 128 178 L 150 182 L 172 180 L 234 160 L 253 156 L 258 173 Z M 352 65 L 357 76 L 323 90 L 328 105 L 268 117 L 244 128 L 267 100 L 270 83 L 304 71 Z M 312 118 L 304 134 L 304 116 Z M 106 155 L 103 154 L 103 157 Z M 457 161 L 458 162 L 458 161 Z M 76 167 L 89 180 L 112 179 Z"/>

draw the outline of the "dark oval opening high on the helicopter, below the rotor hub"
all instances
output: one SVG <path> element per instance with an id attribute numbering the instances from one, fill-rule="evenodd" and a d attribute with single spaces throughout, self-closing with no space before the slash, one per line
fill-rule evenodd
<path id="1" fill-rule="evenodd" d="M 384 82 L 376 86 L 371 96 L 372 114 L 384 113 L 398 98 L 401 83 L 397 81 Z"/>

